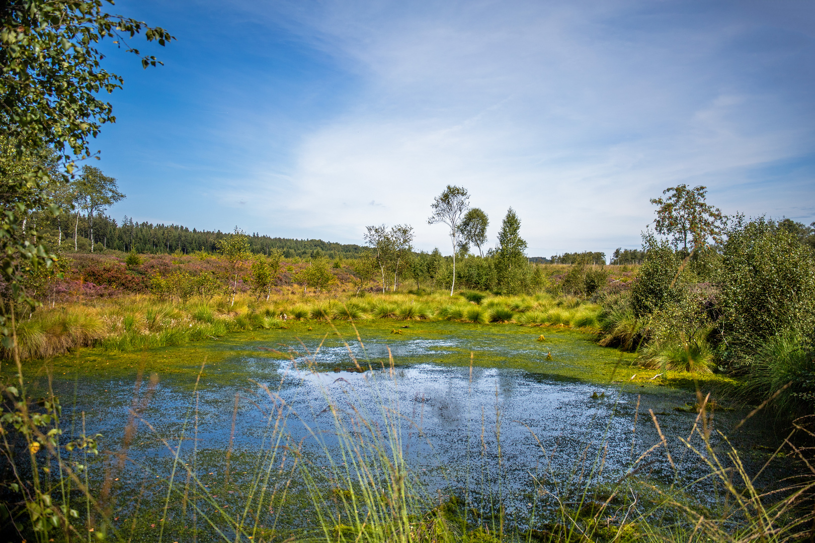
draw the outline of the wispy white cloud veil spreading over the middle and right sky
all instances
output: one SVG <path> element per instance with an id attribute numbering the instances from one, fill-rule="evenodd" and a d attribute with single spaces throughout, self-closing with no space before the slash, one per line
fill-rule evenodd
<path id="1" fill-rule="evenodd" d="M 812 209 L 800 179 L 776 179 L 756 200 L 739 193 L 751 168 L 812 148 L 813 115 L 790 99 L 795 88 L 774 85 L 733 45 L 767 24 L 764 11 L 717 6 L 245 7 L 364 81 L 346 112 L 300 134 L 276 217 L 332 240 L 407 222 L 418 247 L 444 248 L 446 232 L 425 219 L 434 195 L 457 184 L 490 215 L 493 239 L 513 206 L 531 253 L 548 255 L 638 243 L 652 219 L 648 199 L 680 182 L 707 184 L 725 212 Z M 773 28 L 794 28 L 796 16 L 774 15 Z M 280 183 L 265 171 L 255 178 L 232 199 L 246 212 L 272 199 L 280 208 L 280 190 L 269 188 Z"/>

